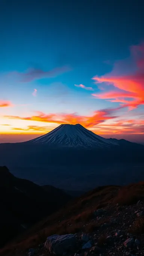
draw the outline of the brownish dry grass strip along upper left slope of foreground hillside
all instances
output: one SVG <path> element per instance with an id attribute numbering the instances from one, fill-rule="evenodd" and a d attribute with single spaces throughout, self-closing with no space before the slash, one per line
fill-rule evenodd
<path id="1" fill-rule="evenodd" d="M 64 209 L 40 221 L 33 228 L 12 241 L 12 244 L 0 250 L 0 254 L 3 256 L 14 256 L 14 248 L 17 248 L 17 252 L 23 251 L 25 253 L 28 248 L 37 247 L 40 243 L 46 241 L 47 236 L 55 233 L 62 235 L 66 233 L 77 233 L 82 230 L 86 233 L 95 231 L 99 226 L 109 220 L 102 218 L 96 224 L 91 221 L 94 218 L 93 212 L 97 209 L 105 208 L 109 203 L 113 202 L 115 197 L 117 197 L 119 188 L 119 186 L 98 187 L 82 197 L 75 199 Z M 89 222 L 92 222 L 92 224 L 86 225 Z M 6 250 L 10 250 L 10 253 L 7 253 Z M 19 253 L 18 255 L 23 254 Z"/>

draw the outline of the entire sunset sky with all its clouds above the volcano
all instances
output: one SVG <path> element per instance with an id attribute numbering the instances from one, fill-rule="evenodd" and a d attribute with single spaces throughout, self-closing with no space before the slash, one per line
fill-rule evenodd
<path id="1" fill-rule="evenodd" d="M 0 0 L 0 143 L 62 123 L 144 143 L 142 3 Z"/>

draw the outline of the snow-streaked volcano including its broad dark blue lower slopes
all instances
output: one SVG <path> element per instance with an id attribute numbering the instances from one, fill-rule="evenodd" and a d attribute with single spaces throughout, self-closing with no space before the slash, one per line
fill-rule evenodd
<path id="1" fill-rule="evenodd" d="M 105 139 L 81 125 L 60 125 L 28 142 L 0 144 L 0 165 L 13 175 L 63 190 L 143 180 L 143 156 L 143 145 Z"/>

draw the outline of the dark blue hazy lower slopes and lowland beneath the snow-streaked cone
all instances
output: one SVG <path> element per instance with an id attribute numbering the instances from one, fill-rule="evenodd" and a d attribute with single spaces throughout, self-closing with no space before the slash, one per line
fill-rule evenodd
<path id="1" fill-rule="evenodd" d="M 106 184 L 144 180 L 144 146 L 116 148 L 49 148 L 45 144 L 0 144 L 0 165 L 13 175 L 39 185 L 65 190 L 90 190 Z"/>

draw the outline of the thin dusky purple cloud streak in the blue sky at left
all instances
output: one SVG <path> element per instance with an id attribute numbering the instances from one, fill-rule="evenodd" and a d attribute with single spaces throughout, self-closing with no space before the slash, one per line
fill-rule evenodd
<path id="1" fill-rule="evenodd" d="M 54 78 L 70 70 L 71 68 L 68 66 L 57 67 L 49 71 L 31 68 L 24 73 L 13 72 L 13 75 L 18 76 L 18 80 L 20 80 L 21 82 L 31 82 L 41 78 Z"/>

